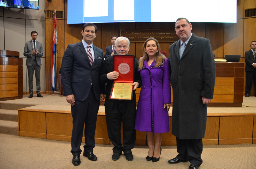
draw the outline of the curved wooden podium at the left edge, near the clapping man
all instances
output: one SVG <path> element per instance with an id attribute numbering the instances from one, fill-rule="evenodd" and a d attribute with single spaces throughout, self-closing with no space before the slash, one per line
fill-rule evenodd
<path id="1" fill-rule="evenodd" d="M 23 96 L 23 62 L 20 52 L 0 50 L 0 101 Z"/>

